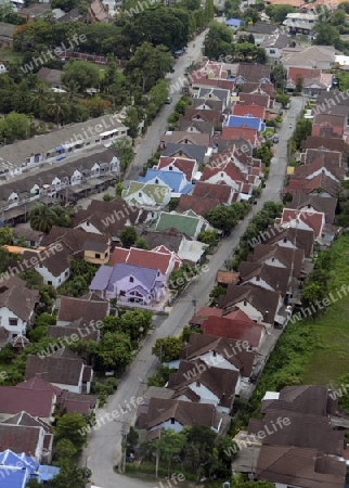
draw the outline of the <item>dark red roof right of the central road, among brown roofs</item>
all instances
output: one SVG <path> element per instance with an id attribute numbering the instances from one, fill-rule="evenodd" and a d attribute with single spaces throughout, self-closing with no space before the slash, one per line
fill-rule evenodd
<path id="1" fill-rule="evenodd" d="M 225 317 L 209 317 L 202 324 L 204 334 L 216 335 L 218 337 L 233 338 L 236 341 L 247 341 L 251 347 L 258 347 L 263 325 L 253 320 L 231 320 Z"/>

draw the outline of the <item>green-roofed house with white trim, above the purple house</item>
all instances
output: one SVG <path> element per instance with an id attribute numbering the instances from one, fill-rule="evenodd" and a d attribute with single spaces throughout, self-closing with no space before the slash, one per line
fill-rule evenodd
<path id="1" fill-rule="evenodd" d="M 196 239 L 201 232 L 211 229 L 207 220 L 192 210 L 184 214 L 161 211 L 158 220 L 152 226 L 152 230 L 156 231 L 173 228 L 193 239 Z"/>

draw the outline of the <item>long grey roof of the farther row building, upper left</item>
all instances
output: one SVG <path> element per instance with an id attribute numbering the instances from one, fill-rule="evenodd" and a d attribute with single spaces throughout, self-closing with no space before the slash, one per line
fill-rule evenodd
<path id="1" fill-rule="evenodd" d="M 50 150 L 54 150 L 64 144 L 76 143 L 82 139 L 86 142 L 88 139 L 85 134 L 90 134 L 91 131 L 92 133 L 93 131 L 96 131 L 100 134 L 111 130 L 112 127 L 113 129 L 127 129 L 116 118 L 113 119 L 112 115 L 104 115 L 102 117 L 89 119 L 85 123 L 70 124 L 62 129 L 53 130 L 50 133 L 36 136 L 31 139 L 2 146 L 0 147 L 0 160 L 10 162 L 14 167 L 22 166 L 22 163 L 25 162 L 30 154 L 47 154 Z"/>

